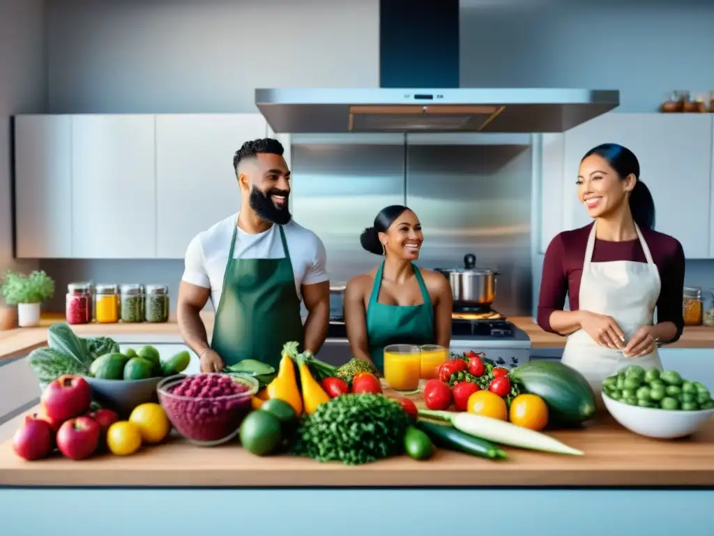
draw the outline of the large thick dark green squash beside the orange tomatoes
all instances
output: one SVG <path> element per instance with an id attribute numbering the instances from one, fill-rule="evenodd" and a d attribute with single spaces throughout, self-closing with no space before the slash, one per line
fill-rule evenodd
<path id="1" fill-rule="evenodd" d="M 536 360 L 513 369 L 511 382 L 548 405 L 551 422 L 573 426 L 595 417 L 595 392 L 583 374 L 560 361 Z"/>

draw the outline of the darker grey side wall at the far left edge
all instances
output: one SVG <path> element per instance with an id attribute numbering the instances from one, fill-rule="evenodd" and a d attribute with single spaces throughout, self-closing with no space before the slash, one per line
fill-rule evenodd
<path id="1" fill-rule="evenodd" d="M 11 116 L 45 109 L 44 23 L 42 0 L 0 0 L 0 274 L 38 265 L 13 259 Z"/>

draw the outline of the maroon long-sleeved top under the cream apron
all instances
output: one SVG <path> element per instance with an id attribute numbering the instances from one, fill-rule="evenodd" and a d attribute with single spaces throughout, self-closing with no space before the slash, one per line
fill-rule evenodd
<path id="1" fill-rule="evenodd" d="M 565 295 L 568 295 L 570 310 L 578 310 L 580 277 L 583 276 L 585 248 L 593 224 L 564 231 L 550 242 L 543 261 L 543 277 L 540 280 L 538 300 L 538 325 L 547 332 L 550 314 L 563 310 Z M 668 342 L 675 342 L 682 334 L 684 318 L 682 294 L 684 289 L 684 250 L 682 244 L 668 234 L 640 229 L 660 272 L 660 297 L 657 300 L 657 321 L 674 322 L 677 334 Z M 608 242 L 595 239 L 592 262 L 635 261 L 647 262 L 639 239 L 626 242 Z"/>

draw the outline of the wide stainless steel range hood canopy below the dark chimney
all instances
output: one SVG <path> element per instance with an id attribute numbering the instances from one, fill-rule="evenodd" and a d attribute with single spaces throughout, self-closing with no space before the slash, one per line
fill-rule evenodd
<path id="1" fill-rule="evenodd" d="M 615 108 L 588 89 L 256 89 L 276 132 L 563 132 Z"/>

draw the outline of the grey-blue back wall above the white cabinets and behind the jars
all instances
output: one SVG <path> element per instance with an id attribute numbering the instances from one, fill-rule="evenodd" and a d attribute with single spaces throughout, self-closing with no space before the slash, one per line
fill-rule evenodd
<path id="1" fill-rule="evenodd" d="M 616 88 L 619 111 L 653 111 L 673 89 L 714 89 L 714 5 L 643 4 L 463 0 L 462 84 Z M 256 86 L 378 85 L 377 0 L 48 0 L 46 17 L 49 112 L 254 111 Z M 181 264 L 41 267 L 58 284 L 174 289 Z M 687 277 L 714 281 L 714 262 L 688 263 Z"/>

